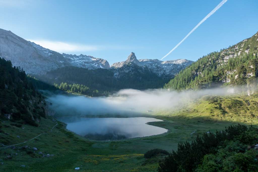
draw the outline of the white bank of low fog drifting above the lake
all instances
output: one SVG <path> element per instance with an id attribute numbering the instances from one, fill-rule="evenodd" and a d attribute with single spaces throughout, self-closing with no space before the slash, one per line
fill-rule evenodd
<path id="1" fill-rule="evenodd" d="M 145 91 L 123 89 L 109 97 L 86 97 L 77 95 L 52 95 L 48 101 L 52 108 L 69 115 L 101 115 L 143 113 L 148 110 L 172 109 L 201 96 L 231 94 L 228 88 L 203 89 L 199 91 L 168 91 L 149 89 Z"/>

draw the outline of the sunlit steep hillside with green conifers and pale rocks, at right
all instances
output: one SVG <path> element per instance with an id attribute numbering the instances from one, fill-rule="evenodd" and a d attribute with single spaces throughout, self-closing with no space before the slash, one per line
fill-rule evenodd
<path id="1" fill-rule="evenodd" d="M 258 76 L 258 32 L 251 38 L 209 53 L 181 70 L 164 88 L 175 90 L 217 85 L 247 85 L 255 88 Z"/>

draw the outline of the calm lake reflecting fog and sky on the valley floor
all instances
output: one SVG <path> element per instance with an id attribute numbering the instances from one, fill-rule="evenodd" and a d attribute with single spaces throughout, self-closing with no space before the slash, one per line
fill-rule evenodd
<path id="1" fill-rule="evenodd" d="M 162 121 L 155 118 L 81 118 L 62 117 L 67 129 L 93 140 L 120 140 L 144 137 L 167 132 L 167 129 L 146 124 Z"/>

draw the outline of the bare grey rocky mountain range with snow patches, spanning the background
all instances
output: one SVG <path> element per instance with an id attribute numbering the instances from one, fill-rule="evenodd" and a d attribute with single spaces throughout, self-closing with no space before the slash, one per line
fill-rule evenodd
<path id="1" fill-rule="evenodd" d="M 21 66 L 26 73 L 34 75 L 45 75 L 47 71 L 66 66 L 114 70 L 122 68 L 128 63 L 134 63 L 139 67 L 147 67 L 159 77 L 172 78 L 181 69 L 193 62 L 186 59 L 170 61 L 160 61 L 157 59 L 137 60 L 132 52 L 126 61 L 114 63 L 110 67 L 107 60 L 83 54 L 60 54 L 34 42 L 27 41 L 4 29 L 0 29 L 0 57 L 10 60 L 13 66 Z M 121 73 L 121 71 L 119 70 L 115 73 L 118 76 L 118 73 Z"/>

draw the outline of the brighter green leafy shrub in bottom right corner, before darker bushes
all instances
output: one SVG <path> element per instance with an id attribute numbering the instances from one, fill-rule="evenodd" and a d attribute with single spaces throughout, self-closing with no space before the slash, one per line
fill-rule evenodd
<path id="1" fill-rule="evenodd" d="M 230 141 L 225 147 L 220 146 L 216 154 L 205 155 L 195 171 L 258 171 L 257 156 L 257 150 L 247 150 L 239 141 Z"/>

